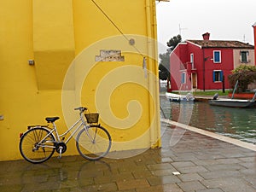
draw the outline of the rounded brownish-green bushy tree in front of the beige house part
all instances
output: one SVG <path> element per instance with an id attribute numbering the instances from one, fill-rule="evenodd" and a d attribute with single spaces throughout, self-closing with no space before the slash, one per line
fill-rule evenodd
<path id="1" fill-rule="evenodd" d="M 256 66 L 241 65 L 236 67 L 229 76 L 230 86 L 233 89 L 237 80 L 239 84 L 236 92 L 245 92 L 248 84 L 253 84 L 256 81 Z"/>

